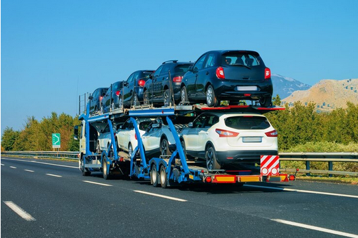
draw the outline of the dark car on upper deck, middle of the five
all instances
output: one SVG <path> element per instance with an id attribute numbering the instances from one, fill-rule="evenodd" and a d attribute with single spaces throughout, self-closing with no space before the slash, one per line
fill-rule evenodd
<path id="1" fill-rule="evenodd" d="M 133 72 L 123 84 L 119 104 L 122 105 L 123 103 L 124 107 L 143 104 L 144 83 L 153 72 L 154 70 L 138 70 Z"/>

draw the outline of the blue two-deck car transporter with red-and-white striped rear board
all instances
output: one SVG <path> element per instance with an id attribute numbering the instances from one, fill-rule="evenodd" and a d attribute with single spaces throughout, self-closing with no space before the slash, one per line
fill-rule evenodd
<path id="1" fill-rule="evenodd" d="M 103 178 L 108 179 L 112 174 L 129 175 L 131 178 L 150 180 L 155 187 L 166 188 L 183 183 L 235 183 L 242 185 L 246 182 L 288 182 L 294 181 L 294 175 L 279 173 L 279 157 L 277 155 L 261 155 L 261 166 L 255 169 L 240 170 L 208 170 L 201 161 L 187 161 L 179 135 L 175 130 L 172 118 L 176 116 L 194 116 L 208 110 L 258 112 L 282 110 L 282 107 L 256 107 L 253 105 L 235 105 L 222 107 L 207 107 L 206 105 L 170 105 L 169 107 L 132 107 L 131 109 L 115 109 L 108 114 L 82 114 L 81 142 L 79 154 L 79 169 L 84 176 L 91 172 L 102 172 Z M 142 138 L 135 118 L 166 118 L 176 149 L 170 156 L 146 158 Z M 138 146 L 133 149 L 131 157 L 118 153 L 114 128 L 130 118 L 134 125 Z M 102 153 L 94 150 L 95 132 L 109 125 L 111 142 Z M 92 132 L 91 132 L 92 129 Z M 137 157 L 137 155 L 140 155 Z M 265 164 L 265 166 L 263 166 Z"/>

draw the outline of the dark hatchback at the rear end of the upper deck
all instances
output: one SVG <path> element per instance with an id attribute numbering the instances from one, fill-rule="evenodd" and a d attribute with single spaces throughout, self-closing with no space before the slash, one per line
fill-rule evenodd
<path id="1" fill-rule="evenodd" d="M 271 105 L 272 81 L 255 51 L 209 51 L 199 57 L 181 82 L 181 101 L 203 102 L 209 107 L 221 100 L 236 104 L 240 100 L 259 100 Z"/>

